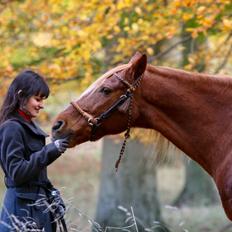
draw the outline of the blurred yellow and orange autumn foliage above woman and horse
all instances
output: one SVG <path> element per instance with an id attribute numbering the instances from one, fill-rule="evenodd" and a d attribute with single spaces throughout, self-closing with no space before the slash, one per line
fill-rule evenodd
<path id="1" fill-rule="evenodd" d="M 185 69 L 192 70 L 201 57 L 205 70 L 214 72 L 231 59 L 230 0 L 2 2 L 2 80 L 29 66 L 51 79 L 76 78 L 85 87 L 106 67 L 137 50 L 146 52 L 156 64 L 155 45 L 179 38 L 183 23 L 192 38 L 207 37 L 210 44 L 207 51 L 190 52 Z M 166 44 L 161 50 L 165 51 Z M 178 45 L 181 48 L 181 42 Z M 173 60 L 163 63 L 178 65 Z"/>

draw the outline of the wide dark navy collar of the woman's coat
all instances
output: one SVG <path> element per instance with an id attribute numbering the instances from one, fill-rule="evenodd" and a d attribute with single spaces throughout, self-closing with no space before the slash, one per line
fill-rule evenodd
<path id="1" fill-rule="evenodd" d="M 18 113 L 16 113 L 14 116 L 12 116 L 10 120 L 14 120 L 14 121 L 17 121 L 17 122 L 21 123 L 23 126 L 28 128 L 31 132 L 33 132 L 36 135 L 40 135 L 40 136 L 43 136 L 43 137 L 48 137 L 49 136 L 42 129 L 40 129 L 40 127 L 35 122 L 33 122 L 33 121 L 29 122 L 29 121 L 25 120 Z"/>

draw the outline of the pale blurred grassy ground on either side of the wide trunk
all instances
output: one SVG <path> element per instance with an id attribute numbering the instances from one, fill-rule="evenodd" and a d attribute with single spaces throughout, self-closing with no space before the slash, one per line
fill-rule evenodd
<path id="1" fill-rule="evenodd" d="M 49 167 L 50 179 L 61 189 L 68 205 L 68 224 L 72 224 L 75 231 L 91 231 L 98 200 L 100 171 L 101 141 L 70 149 Z M 157 180 L 162 217 L 172 232 L 221 232 L 230 223 L 220 203 L 196 208 L 175 208 L 170 205 L 184 183 L 184 167 L 180 163 L 157 167 Z M 0 203 L 4 190 L 1 173 Z M 223 232 L 231 231 L 232 228 Z"/>

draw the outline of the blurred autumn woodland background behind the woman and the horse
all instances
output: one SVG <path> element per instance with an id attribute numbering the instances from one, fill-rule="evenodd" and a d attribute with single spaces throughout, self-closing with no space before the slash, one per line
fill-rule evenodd
<path id="1" fill-rule="evenodd" d="M 231 75 L 232 2 L 1 0 L 0 44 L 0 102 L 18 72 L 39 71 L 51 96 L 38 123 L 50 133 L 71 100 L 136 51 L 153 65 Z M 232 231 L 211 178 L 160 141 L 133 130 L 117 173 L 122 136 L 87 142 L 51 164 L 69 230 Z M 2 203 L 2 172 L 0 186 Z"/>

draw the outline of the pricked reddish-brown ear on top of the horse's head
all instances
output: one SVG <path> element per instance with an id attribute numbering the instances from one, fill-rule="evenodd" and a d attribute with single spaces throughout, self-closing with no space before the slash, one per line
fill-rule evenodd
<path id="1" fill-rule="evenodd" d="M 134 79 L 137 79 L 145 72 L 147 66 L 147 56 L 140 52 L 136 52 L 131 58 L 130 63 L 132 64 Z"/>

